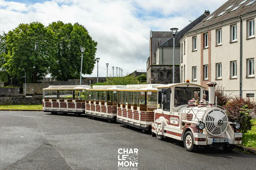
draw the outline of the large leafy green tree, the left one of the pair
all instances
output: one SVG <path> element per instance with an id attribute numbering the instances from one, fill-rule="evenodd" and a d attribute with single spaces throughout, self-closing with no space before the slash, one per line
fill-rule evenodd
<path id="1" fill-rule="evenodd" d="M 43 24 L 33 22 L 19 24 L 7 34 L 4 69 L 19 82 L 24 81 L 26 70 L 27 82 L 35 83 L 45 77 L 49 67 L 56 64 L 54 32 Z"/>

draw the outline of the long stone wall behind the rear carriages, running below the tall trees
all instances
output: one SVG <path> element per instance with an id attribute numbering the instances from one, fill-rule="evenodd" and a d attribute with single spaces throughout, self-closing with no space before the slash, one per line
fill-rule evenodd
<path id="1" fill-rule="evenodd" d="M 99 77 L 99 82 L 105 82 L 105 77 Z M 91 85 L 97 83 L 97 77 L 87 77 L 82 79 L 82 85 Z M 61 85 L 79 85 L 80 79 L 71 79 L 68 81 L 49 81 L 42 83 L 26 83 L 26 94 L 42 94 L 43 88 L 49 86 L 61 86 Z M 25 83 L 23 83 L 23 88 L 25 89 Z M 24 91 L 25 92 L 25 91 Z"/>

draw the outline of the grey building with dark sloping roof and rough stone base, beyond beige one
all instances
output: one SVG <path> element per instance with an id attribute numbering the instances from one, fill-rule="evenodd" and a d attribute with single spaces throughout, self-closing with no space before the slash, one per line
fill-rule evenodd
<path id="1" fill-rule="evenodd" d="M 175 54 L 174 64 L 180 66 L 180 39 L 186 32 L 199 24 L 204 18 L 210 14 L 205 11 L 194 21 L 191 21 L 186 27 L 176 33 L 175 36 Z M 169 36 L 169 37 L 168 37 Z M 167 38 L 168 37 L 168 38 Z M 157 67 L 155 66 L 157 65 Z M 175 68 L 175 83 L 180 83 L 180 69 Z M 161 68 L 162 67 L 162 68 Z M 173 69 L 173 36 L 172 32 L 150 31 L 150 57 L 147 60 L 147 83 L 172 83 Z M 165 72 L 164 72 L 165 71 Z M 166 73 L 168 72 L 167 76 Z M 177 73 L 176 73 L 177 72 Z M 176 76 L 178 76 L 176 78 Z M 154 80 L 155 79 L 155 80 Z"/>

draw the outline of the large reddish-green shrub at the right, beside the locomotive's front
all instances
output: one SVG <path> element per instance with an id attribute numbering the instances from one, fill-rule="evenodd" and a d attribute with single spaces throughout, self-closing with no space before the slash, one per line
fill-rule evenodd
<path id="1" fill-rule="evenodd" d="M 250 113 L 256 108 L 256 104 L 249 98 L 240 98 L 239 96 L 234 96 L 231 100 L 223 106 L 226 109 L 226 114 L 230 122 L 238 120 L 241 123 L 241 132 L 246 133 L 251 129 L 251 119 Z"/>

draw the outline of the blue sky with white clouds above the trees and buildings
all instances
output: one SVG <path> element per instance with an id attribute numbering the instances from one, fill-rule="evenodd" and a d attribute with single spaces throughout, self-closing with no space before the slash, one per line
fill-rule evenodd
<path id="1" fill-rule="evenodd" d="M 98 42 L 96 58 L 99 77 L 113 75 L 112 67 L 123 75 L 146 70 L 150 30 L 180 30 L 205 10 L 214 12 L 227 0 L 0 0 L 0 33 L 20 23 L 53 21 L 84 25 Z M 116 73 L 114 72 L 114 75 Z M 97 64 L 91 75 L 97 76 Z"/>

